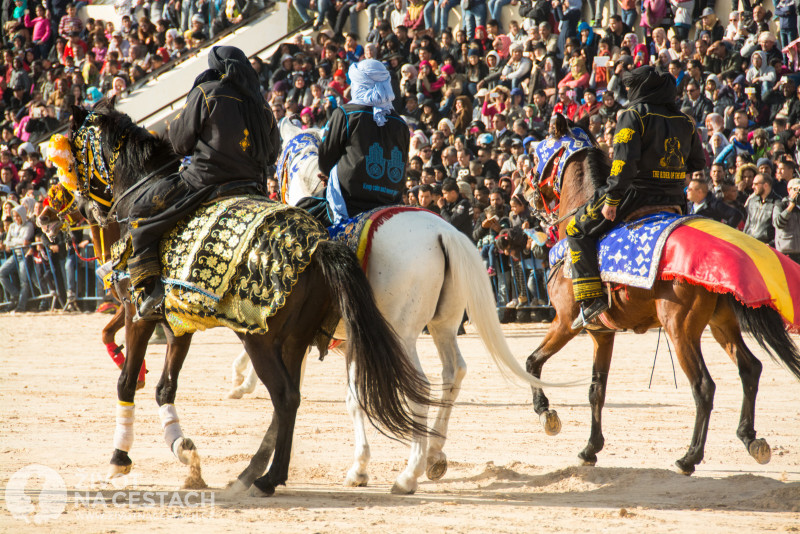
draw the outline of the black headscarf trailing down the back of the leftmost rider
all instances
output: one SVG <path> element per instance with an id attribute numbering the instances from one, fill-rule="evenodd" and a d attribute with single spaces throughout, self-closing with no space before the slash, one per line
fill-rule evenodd
<path id="1" fill-rule="evenodd" d="M 208 54 L 209 69 L 200 74 L 194 86 L 220 80 L 221 85 L 228 85 L 236 89 L 244 101 L 244 117 L 242 119 L 253 139 L 253 157 L 266 167 L 272 165 L 268 161 L 271 150 L 269 128 L 274 123 L 274 118 L 267 111 L 264 96 L 261 94 L 261 84 L 258 73 L 255 71 L 247 56 L 235 46 L 215 46 Z"/>

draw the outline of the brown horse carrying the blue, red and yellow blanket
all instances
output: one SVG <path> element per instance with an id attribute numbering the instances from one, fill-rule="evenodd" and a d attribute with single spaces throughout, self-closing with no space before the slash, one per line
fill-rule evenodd
<path id="1" fill-rule="evenodd" d="M 574 155 L 565 165 L 561 185 L 560 206 L 557 218 L 547 222 L 558 226 L 559 235 L 565 236 L 565 227 L 574 210 L 586 203 L 609 175 L 607 156 L 598 148 Z M 558 199 L 552 187 L 525 181 L 524 195 L 540 213 L 545 205 L 553 206 Z M 547 219 L 546 216 L 543 218 Z M 563 273 L 562 264 L 552 267 L 547 285 L 556 318 L 544 340 L 527 360 L 527 370 L 541 378 L 542 367 L 580 331 L 572 330 L 572 321 L 578 315 L 578 305 L 573 299 L 572 281 Z M 604 438 L 601 415 L 606 394 L 606 381 L 611 366 L 616 330 L 628 329 L 644 333 L 650 328 L 663 327 L 675 346 L 683 372 L 689 379 L 697 407 L 694 432 L 689 450 L 675 463 L 686 475 L 694 472 L 703 459 L 709 417 L 714 400 L 714 381 L 706 369 L 700 351 L 700 336 L 706 326 L 711 327 L 714 339 L 722 345 L 739 368 L 744 390 L 739 428 L 736 432 L 747 451 L 759 463 L 767 463 L 771 450 L 764 439 L 756 439 L 753 426 L 761 362 L 750 352 L 742 339 L 742 330 L 752 334 L 770 354 L 781 360 L 800 378 L 800 353 L 786 333 L 780 315 L 769 307 L 747 308 L 730 295 L 712 293 L 707 289 L 678 280 L 656 280 L 652 289 L 624 287 L 610 296 L 612 307 L 605 313 L 605 323 L 610 328 L 593 325 L 588 333 L 594 341 L 594 364 L 589 402 L 592 407 L 592 425 L 589 442 L 578 457 L 585 465 L 597 462 Z M 771 350 L 770 350 L 771 349 Z M 532 388 L 533 406 L 545 428 L 554 435 L 561 429 L 561 421 L 540 388 Z"/>

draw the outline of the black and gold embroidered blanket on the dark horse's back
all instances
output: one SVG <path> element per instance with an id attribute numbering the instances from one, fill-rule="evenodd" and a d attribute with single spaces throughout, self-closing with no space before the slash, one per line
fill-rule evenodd
<path id="1" fill-rule="evenodd" d="M 161 240 L 170 327 L 176 335 L 216 326 L 266 333 L 327 237 L 305 211 L 263 197 L 200 207 Z"/>

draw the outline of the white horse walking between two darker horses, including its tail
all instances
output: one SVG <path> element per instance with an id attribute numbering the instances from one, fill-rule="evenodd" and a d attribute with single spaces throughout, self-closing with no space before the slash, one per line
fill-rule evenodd
<path id="1" fill-rule="evenodd" d="M 284 120 L 280 132 L 284 151 L 287 144 L 300 134 L 311 134 L 316 139 L 313 146 L 306 146 L 294 154 L 292 161 L 285 163 L 291 173 L 285 188 L 282 184 L 284 199 L 295 205 L 303 197 L 319 196 L 325 187 L 318 177 L 320 131 L 301 130 Z M 397 332 L 408 357 L 420 372 L 422 368 L 416 345 L 425 326 L 442 361 L 442 406 L 438 408 L 433 426 L 434 432 L 441 437 L 418 436 L 413 440 L 408 465 L 392 487 L 393 493 L 413 493 L 423 473 L 426 472 L 431 480 L 438 480 L 447 471 L 447 457 L 442 451 L 444 436 L 467 370 L 456 342 L 465 309 L 501 372 L 531 385 L 541 382 L 528 374 L 511 354 L 477 249 L 467 236 L 439 216 L 421 210 L 401 212 L 381 225 L 373 235 L 367 279 L 378 308 Z M 340 330 L 335 333 L 336 339 L 344 339 L 344 332 Z M 233 365 L 233 381 L 237 386 L 231 391 L 233 398 L 241 398 L 242 394 L 255 388 L 255 379 L 243 376 L 246 364 L 247 354 L 242 352 Z M 353 369 L 349 371 L 352 376 Z M 357 395 L 358 391 L 348 388 L 346 403 L 353 418 L 356 438 L 355 462 L 345 478 L 345 484 L 349 486 L 365 486 L 369 480 L 366 418 Z M 418 415 L 426 418 L 427 409 Z M 545 419 L 551 427 L 555 424 L 552 421 L 557 421 L 557 418 L 543 416 L 543 422 Z M 558 429 L 549 430 L 557 433 Z"/>

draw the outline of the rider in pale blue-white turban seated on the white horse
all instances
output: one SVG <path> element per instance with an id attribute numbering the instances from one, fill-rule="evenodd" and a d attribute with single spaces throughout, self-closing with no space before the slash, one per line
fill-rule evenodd
<path id="1" fill-rule="evenodd" d="M 319 147 L 320 170 L 329 175 L 325 198 L 298 204 L 326 226 L 399 204 L 408 163 L 408 125 L 392 107 L 389 71 L 365 59 L 347 74 L 352 99 L 333 112 Z"/>

